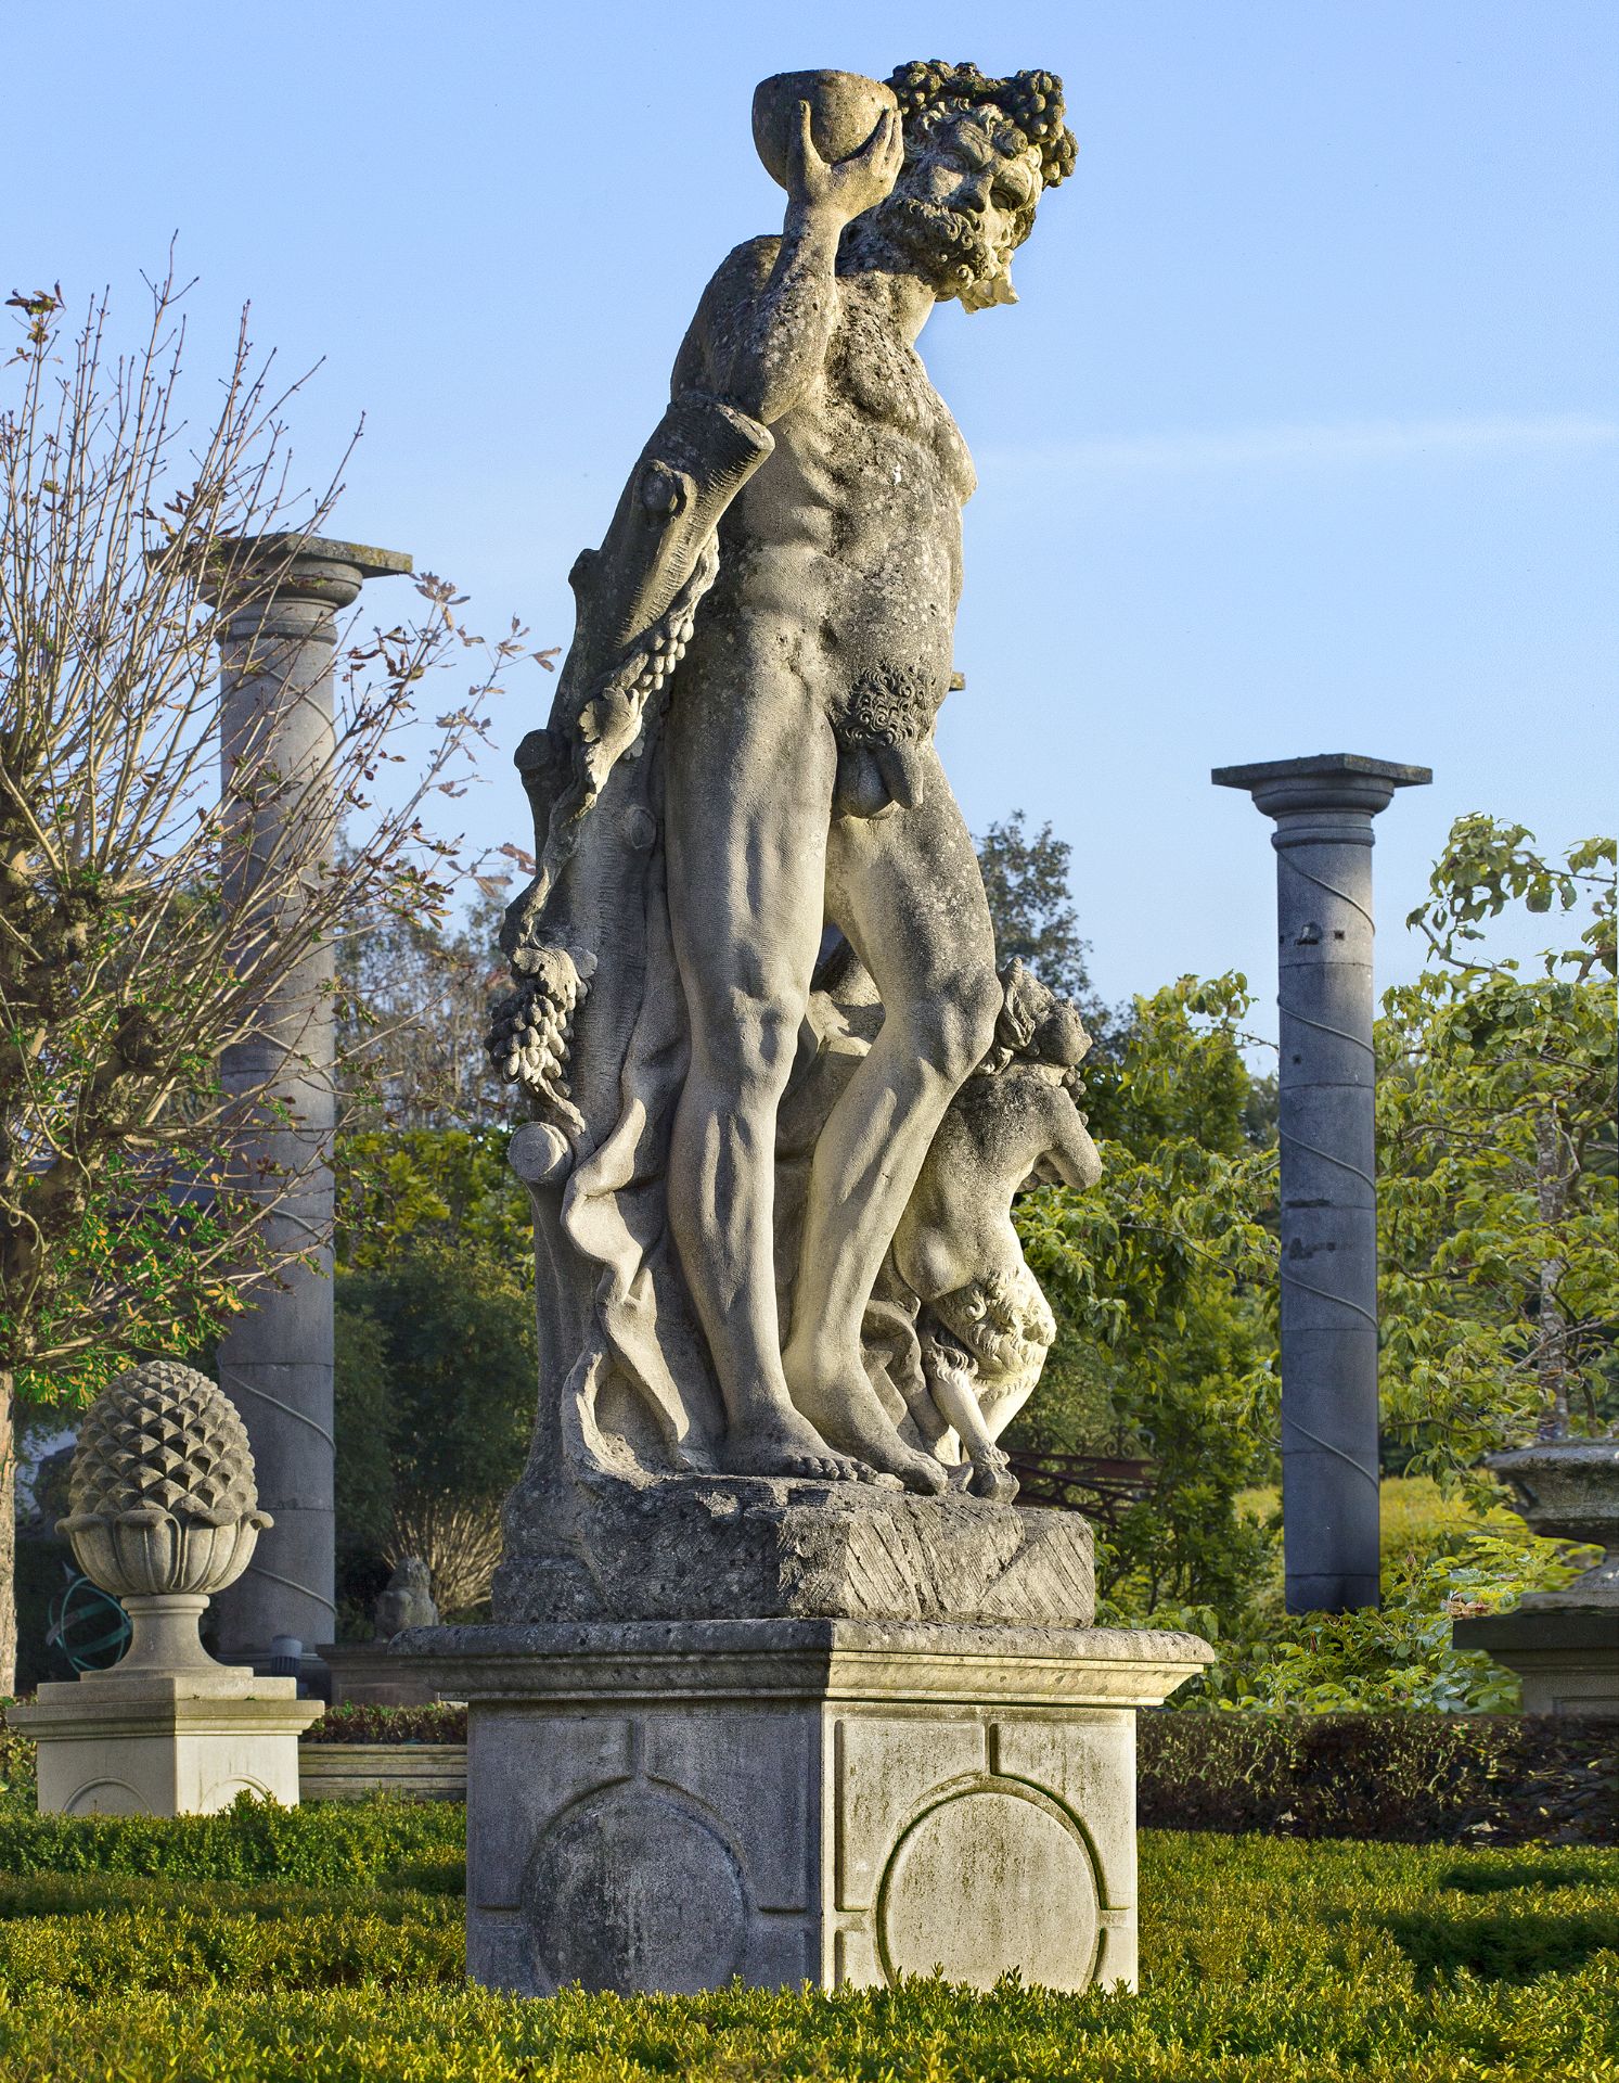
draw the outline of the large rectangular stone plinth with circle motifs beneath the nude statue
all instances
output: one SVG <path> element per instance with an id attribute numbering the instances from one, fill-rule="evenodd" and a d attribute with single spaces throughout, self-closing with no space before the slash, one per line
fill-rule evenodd
<path id="1" fill-rule="evenodd" d="M 416 1629 L 468 1702 L 495 1989 L 1134 1985 L 1134 1710 L 1192 1635 L 868 1621 Z"/>

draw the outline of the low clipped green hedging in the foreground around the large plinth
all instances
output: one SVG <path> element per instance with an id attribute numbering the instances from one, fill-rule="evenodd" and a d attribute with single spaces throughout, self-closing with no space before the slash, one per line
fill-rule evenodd
<path id="1" fill-rule="evenodd" d="M 233 1829 L 0 1829 L 6 2083 L 1619 2083 L 1619 1852 L 1151 1831 L 1140 1996 L 520 2002 L 462 1981 L 458 1812 Z"/>

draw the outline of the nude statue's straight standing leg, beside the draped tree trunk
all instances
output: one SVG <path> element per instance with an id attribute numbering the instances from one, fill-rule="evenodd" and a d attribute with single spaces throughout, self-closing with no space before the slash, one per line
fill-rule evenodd
<path id="1" fill-rule="evenodd" d="M 716 648 L 718 650 L 718 648 Z M 793 1408 L 776 1316 L 776 1110 L 820 950 L 837 746 L 801 681 L 735 652 L 676 685 L 666 856 L 691 1066 L 668 1208 L 735 1475 L 847 1477 Z"/>

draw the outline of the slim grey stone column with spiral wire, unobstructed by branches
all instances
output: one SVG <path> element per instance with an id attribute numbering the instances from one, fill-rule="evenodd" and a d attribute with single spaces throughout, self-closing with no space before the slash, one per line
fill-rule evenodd
<path id="1" fill-rule="evenodd" d="M 1378 1604 L 1371 819 L 1432 781 L 1353 752 L 1217 767 L 1276 819 L 1288 1612 Z"/>

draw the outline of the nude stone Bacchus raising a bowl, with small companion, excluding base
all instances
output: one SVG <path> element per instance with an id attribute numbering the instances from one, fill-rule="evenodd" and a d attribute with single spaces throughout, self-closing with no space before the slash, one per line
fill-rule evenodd
<path id="1" fill-rule="evenodd" d="M 1005 1202 L 1040 1162 L 1088 1183 L 1095 1152 L 1057 1121 L 1078 1042 L 1049 1006 L 1045 1054 L 988 1075 L 1022 1094 L 995 1129 L 993 1235 L 959 1229 L 951 1152 L 993 1135 L 951 1102 L 1009 998 L 934 750 L 974 475 L 916 340 L 943 300 L 1013 300 L 1074 140 L 1049 75 L 947 65 L 768 81 L 755 135 L 785 229 L 708 285 L 670 410 L 574 569 L 551 721 L 518 754 L 539 873 L 508 914 L 518 989 L 493 1050 L 535 1112 L 520 1162 L 564 1406 L 545 1450 L 943 1489 L 941 1427 L 903 1423 L 870 1344 L 897 1264 L 934 1408 L 993 1489 L 997 1362 L 963 1310 L 1011 1310 L 1043 1356 Z M 872 979 L 872 1033 L 805 1152 L 782 1262 L 780 1112 L 834 935 Z"/>

